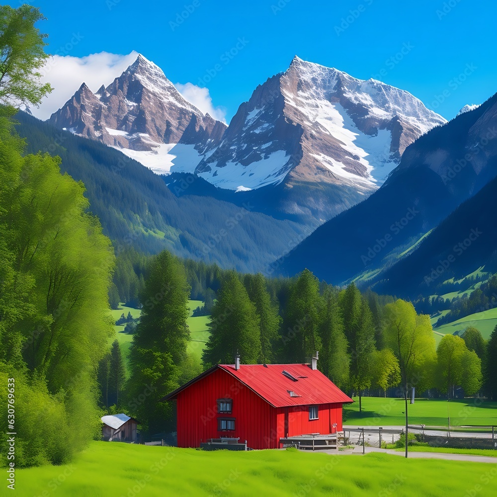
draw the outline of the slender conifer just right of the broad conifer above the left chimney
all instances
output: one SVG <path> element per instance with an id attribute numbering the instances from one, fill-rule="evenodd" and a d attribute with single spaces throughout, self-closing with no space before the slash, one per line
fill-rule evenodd
<path id="1" fill-rule="evenodd" d="M 266 280 L 261 273 L 246 275 L 245 287 L 247 288 L 248 297 L 255 305 L 259 316 L 260 357 L 258 362 L 271 363 L 273 360 L 273 346 L 278 339 L 281 322 L 278 306 L 271 302 L 271 297 L 266 289 Z"/>

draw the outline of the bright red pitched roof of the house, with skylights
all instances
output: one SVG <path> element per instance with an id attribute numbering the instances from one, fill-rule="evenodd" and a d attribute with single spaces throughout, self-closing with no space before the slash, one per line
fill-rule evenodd
<path id="1" fill-rule="evenodd" d="M 162 400 L 170 400 L 192 383 L 223 369 L 248 386 L 273 407 L 302 406 L 308 404 L 334 404 L 354 402 L 321 371 L 308 364 L 220 364 L 205 371 Z M 285 373 L 284 373 L 285 372 Z"/>

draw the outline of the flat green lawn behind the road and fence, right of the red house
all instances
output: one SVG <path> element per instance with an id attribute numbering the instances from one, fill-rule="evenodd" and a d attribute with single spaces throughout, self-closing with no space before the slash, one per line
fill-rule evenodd
<path id="1" fill-rule="evenodd" d="M 343 424 L 357 426 L 395 426 L 406 424 L 404 399 L 383 397 L 363 397 L 362 413 L 359 413 L 358 398 L 354 404 L 344 406 L 346 419 Z M 474 399 L 424 400 L 416 399 L 408 406 L 410 424 L 428 426 L 497 425 L 497 402 L 484 402 Z M 447 412 L 448 410 L 448 412 Z"/>

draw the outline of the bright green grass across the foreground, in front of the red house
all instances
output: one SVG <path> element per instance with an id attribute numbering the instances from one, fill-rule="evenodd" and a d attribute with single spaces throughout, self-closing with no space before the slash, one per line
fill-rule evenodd
<path id="1" fill-rule="evenodd" d="M 17 470 L 15 490 L 19 496 L 43 497 L 463 497 L 476 495 L 471 491 L 478 488 L 479 495 L 492 496 L 497 493 L 497 478 L 488 474 L 495 476 L 494 468 L 488 463 L 381 453 L 204 452 L 92 442 L 68 466 Z"/>

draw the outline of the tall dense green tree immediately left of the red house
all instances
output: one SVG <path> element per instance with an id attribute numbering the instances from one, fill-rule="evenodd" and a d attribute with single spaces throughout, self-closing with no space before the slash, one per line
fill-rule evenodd
<path id="1" fill-rule="evenodd" d="M 159 401 L 179 386 L 180 367 L 187 358 L 189 291 L 184 267 L 176 257 L 167 251 L 154 257 L 130 348 L 130 397 L 139 398 L 145 389 L 150 394 L 144 402 L 132 402 L 131 408 L 149 434 L 172 427 L 172 407 Z"/>

